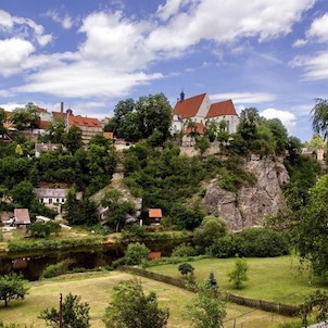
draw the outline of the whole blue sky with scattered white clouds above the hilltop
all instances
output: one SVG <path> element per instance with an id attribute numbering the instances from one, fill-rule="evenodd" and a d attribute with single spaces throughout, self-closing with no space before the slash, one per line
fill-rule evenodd
<path id="1" fill-rule="evenodd" d="M 310 140 L 328 99 L 327 0 L 0 0 L 0 106 L 103 118 L 206 92 Z"/>

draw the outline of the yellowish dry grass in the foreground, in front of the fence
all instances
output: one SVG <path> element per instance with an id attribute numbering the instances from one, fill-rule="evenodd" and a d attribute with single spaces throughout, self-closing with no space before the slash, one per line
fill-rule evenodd
<path id="1" fill-rule="evenodd" d="M 45 321 L 38 319 L 42 308 L 58 306 L 60 292 L 65 295 L 68 292 L 81 297 L 83 302 L 90 304 L 91 327 L 103 328 L 101 317 L 105 307 L 111 301 L 111 290 L 118 281 L 131 279 L 128 274 L 90 273 L 76 274 L 58 277 L 50 280 L 42 280 L 31 285 L 29 294 L 24 301 L 11 301 L 9 307 L 0 303 L 0 317 L 4 323 L 34 324 L 34 328 L 46 327 Z M 160 306 L 169 308 L 168 328 L 190 327 L 189 320 L 182 316 L 182 308 L 191 300 L 193 294 L 189 291 L 175 288 L 142 278 L 142 286 L 146 291 L 156 292 Z M 262 328 L 270 327 L 274 324 L 291 320 L 279 315 L 254 311 L 249 307 L 228 304 L 226 328 L 241 327 Z"/>

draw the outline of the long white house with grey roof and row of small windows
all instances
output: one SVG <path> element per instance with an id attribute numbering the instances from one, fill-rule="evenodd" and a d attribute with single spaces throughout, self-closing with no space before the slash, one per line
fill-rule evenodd
<path id="1" fill-rule="evenodd" d="M 39 202 L 47 207 L 61 212 L 62 205 L 66 202 L 68 189 L 65 188 L 35 188 L 35 194 Z"/>

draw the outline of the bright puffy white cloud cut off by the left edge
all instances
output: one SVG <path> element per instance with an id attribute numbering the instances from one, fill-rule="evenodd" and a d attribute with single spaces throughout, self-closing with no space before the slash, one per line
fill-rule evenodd
<path id="1" fill-rule="evenodd" d="M 35 51 L 26 40 L 13 38 L 0 40 L 0 74 L 9 76 L 22 70 L 23 63 Z"/>

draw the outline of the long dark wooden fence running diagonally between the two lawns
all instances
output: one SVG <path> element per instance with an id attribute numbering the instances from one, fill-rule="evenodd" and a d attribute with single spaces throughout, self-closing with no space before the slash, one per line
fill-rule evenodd
<path id="1" fill-rule="evenodd" d="M 137 267 L 122 266 L 118 269 L 122 272 L 125 272 L 125 273 L 130 273 L 130 274 L 135 274 L 135 275 L 142 276 L 146 278 L 150 278 L 152 280 L 173 285 L 175 287 L 182 288 L 186 290 L 191 290 L 190 288 L 188 288 L 186 286 L 184 280 L 176 279 L 173 277 L 148 272 L 148 270 L 137 268 Z M 252 308 L 258 308 L 258 310 L 263 310 L 266 312 L 278 313 L 278 314 L 287 315 L 287 316 L 297 316 L 300 313 L 300 307 L 295 306 L 295 305 L 281 304 L 281 303 L 276 303 L 276 302 L 267 302 L 267 301 L 263 301 L 263 300 L 247 299 L 247 298 L 237 297 L 237 295 L 234 295 L 230 293 L 228 294 L 228 300 L 238 305 L 244 305 L 244 306 L 249 306 Z"/>

